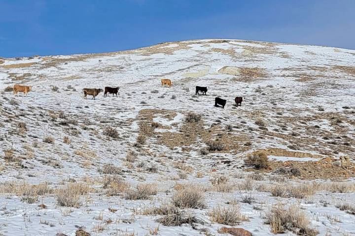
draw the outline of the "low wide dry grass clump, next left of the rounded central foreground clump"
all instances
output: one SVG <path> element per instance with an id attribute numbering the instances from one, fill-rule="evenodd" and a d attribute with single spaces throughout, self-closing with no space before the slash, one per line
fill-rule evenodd
<path id="1" fill-rule="evenodd" d="M 128 200 L 149 200 L 152 195 L 156 195 L 158 189 L 156 184 L 142 183 L 125 193 L 125 199 Z"/>

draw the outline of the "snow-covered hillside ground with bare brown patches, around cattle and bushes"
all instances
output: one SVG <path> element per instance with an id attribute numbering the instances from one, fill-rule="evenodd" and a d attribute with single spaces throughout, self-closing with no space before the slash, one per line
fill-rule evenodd
<path id="1" fill-rule="evenodd" d="M 273 148 L 305 152 L 308 156 L 303 158 L 280 152 L 269 159 L 302 161 L 313 168 L 307 171 L 315 173 L 330 168 L 317 166 L 323 157 L 336 161 L 349 155 L 354 162 L 354 64 L 354 50 L 213 39 L 107 54 L 4 59 L 0 89 L 15 83 L 33 89 L 27 97 L 14 97 L 12 92 L 0 97 L 0 181 L 2 185 L 46 182 L 53 191 L 34 203 L 2 191 L 0 235 L 71 236 L 77 227 L 92 235 L 129 235 L 125 231 L 153 235 L 156 227 L 162 236 L 220 235 L 217 230 L 225 225 L 212 222 L 208 212 L 230 199 L 240 201 L 236 189 L 249 175 L 244 165 L 249 153 Z M 225 66 L 229 68 L 221 70 Z M 162 78 L 171 79 L 172 87 L 161 87 Z M 83 88 L 105 86 L 119 86 L 118 97 L 103 93 L 95 100 L 82 97 Z M 195 86 L 208 87 L 207 96 L 195 95 Z M 224 109 L 213 107 L 216 96 L 227 100 Z M 241 107 L 234 106 L 235 96 L 243 97 Z M 186 123 L 188 112 L 201 114 L 202 120 Z M 25 122 L 26 128 L 19 122 Z M 107 127 L 115 128 L 120 137 L 107 137 Z M 139 135 L 146 141 L 138 146 Z M 54 143 L 43 142 L 47 136 Z M 65 136 L 70 143 L 63 141 Z M 221 140 L 225 149 L 199 154 L 213 140 Z M 10 149 L 13 159 L 8 160 L 5 152 Z M 126 161 L 130 150 L 138 154 L 134 162 Z M 102 179 L 110 175 L 100 172 L 106 164 L 120 168 L 120 176 L 132 186 L 156 184 L 157 195 L 150 200 L 107 196 Z M 312 173 L 305 171 L 300 178 L 280 183 L 272 170 L 266 171 L 264 180 L 253 180 L 252 189 L 243 190 L 255 200 L 240 203 L 249 222 L 236 227 L 253 235 L 273 235 L 262 216 L 270 206 L 283 202 L 305 210 L 311 228 L 320 235 L 355 235 L 355 216 L 336 207 L 340 202 L 354 203 L 355 187 L 347 193 L 320 188 L 305 199 L 273 197 L 257 187 L 340 180 L 354 184 L 354 169 L 330 166 L 336 179 L 310 177 Z M 155 221 L 159 216 L 140 212 L 170 201 L 177 183 L 211 187 L 210 179 L 216 176 L 228 176 L 234 189 L 227 193 L 210 189 L 204 193 L 207 207 L 190 209 L 205 224 L 168 227 Z M 318 179 L 309 180 L 314 178 Z M 94 190 L 81 196 L 81 207 L 61 207 L 56 190 L 72 179 Z"/>

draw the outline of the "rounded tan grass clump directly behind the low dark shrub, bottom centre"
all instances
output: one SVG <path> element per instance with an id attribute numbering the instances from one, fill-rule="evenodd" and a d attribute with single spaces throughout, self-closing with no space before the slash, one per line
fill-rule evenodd
<path id="1" fill-rule="evenodd" d="M 188 185 L 178 190 L 172 197 L 172 203 L 179 208 L 204 208 L 205 195 L 198 186 Z"/>

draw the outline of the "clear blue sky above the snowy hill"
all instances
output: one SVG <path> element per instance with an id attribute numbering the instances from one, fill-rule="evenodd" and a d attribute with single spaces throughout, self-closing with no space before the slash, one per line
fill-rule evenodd
<path id="1" fill-rule="evenodd" d="M 233 38 L 355 49 L 355 0 L 0 0 L 0 57 Z"/>

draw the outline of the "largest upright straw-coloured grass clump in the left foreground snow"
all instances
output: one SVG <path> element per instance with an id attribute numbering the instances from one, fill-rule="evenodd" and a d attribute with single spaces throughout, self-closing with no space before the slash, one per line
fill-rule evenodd
<path id="1" fill-rule="evenodd" d="M 80 207 L 80 195 L 91 192 L 92 189 L 83 183 L 69 183 L 56 190 L 57 203 L 61 207 Z"/>

